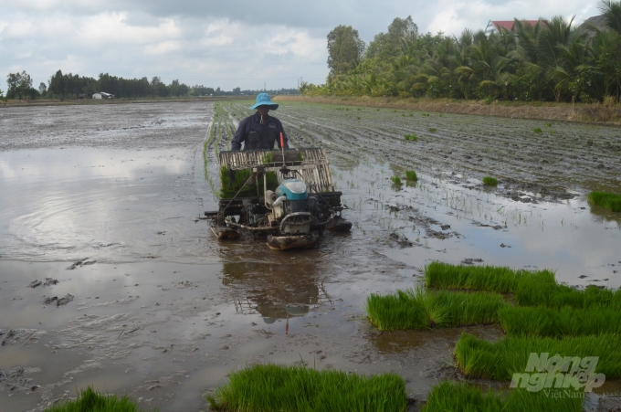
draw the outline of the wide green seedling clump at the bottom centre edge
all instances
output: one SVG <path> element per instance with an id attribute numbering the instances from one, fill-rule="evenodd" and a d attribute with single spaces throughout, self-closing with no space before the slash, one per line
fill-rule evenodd
<path id="1" fill-rule="evenodd" d="M 404 411 L 405 381 L 396 374 L 363 376 L 304 366 L 257 364 L 228 375 L 207 396 L 222 411 Z"/>

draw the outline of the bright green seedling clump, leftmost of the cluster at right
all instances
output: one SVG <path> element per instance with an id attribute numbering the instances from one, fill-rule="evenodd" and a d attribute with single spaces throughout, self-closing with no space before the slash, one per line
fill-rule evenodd
<path id="1" fill-rule="evenodd" d="M 366 300 L 369 320 L 381 331 L 426 330 L 498 322 L 501 295 L 486 292 L 397 291 Z"/>

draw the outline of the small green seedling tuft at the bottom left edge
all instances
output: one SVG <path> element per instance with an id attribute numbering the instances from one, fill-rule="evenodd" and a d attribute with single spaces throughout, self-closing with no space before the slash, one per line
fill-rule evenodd
<path id="1" fill-rule="evenodd" d="M 143 409 L 129 396 L 102 395 L 91 386 L 75 399 L 60 401 L 45 412 L 140 412 Z M 153 409 L 155 410 L 155 409 Z"/>

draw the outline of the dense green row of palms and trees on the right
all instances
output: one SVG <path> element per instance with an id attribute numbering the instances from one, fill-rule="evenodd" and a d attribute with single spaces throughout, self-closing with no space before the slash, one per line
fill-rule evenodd
<path id="1" fill-rule="evenodd" d="M 621 1 L 602 2 L 602 24 L 574 18 L 515 19 L 510 30 L 419 34 L 411 16 L 395 18 L 365 45 L 352 26 L 328 35 L 325 84 L 307 95 L 477 100 L 619 101 Z"/>

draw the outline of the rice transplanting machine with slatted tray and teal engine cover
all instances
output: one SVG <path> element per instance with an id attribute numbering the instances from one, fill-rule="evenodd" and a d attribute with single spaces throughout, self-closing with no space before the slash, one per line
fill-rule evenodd
<path id="1" fill-rule="evenodd" d="M 216 238 L 265 237 L 268 247 L 276 250 L 312 248 L 323 230 L 352 227 L 341 216 L 342 193 L 334 191 L 323 149 L 221 152 L 218 163 L 231 176 L 237 170 L 251 174 L 236 195 L 220 198 L 217 211 L 205 212 Z M 268 189 L 268 173 L 276 174 L 276 190 Z M 239 196 L 250 184 L 256 185 L 257 195 Z"/>

